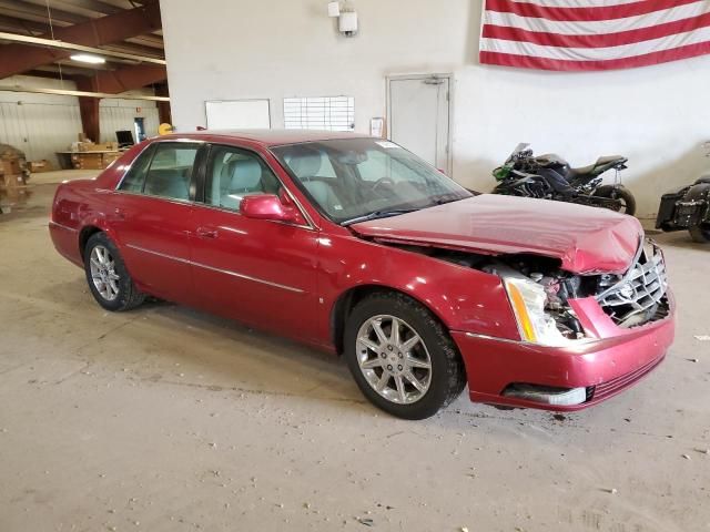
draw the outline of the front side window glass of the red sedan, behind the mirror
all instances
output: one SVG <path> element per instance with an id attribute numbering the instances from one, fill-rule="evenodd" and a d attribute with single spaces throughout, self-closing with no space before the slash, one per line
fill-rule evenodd
<path id="1" fill-rule="evenodd" d="M 256 154 L 229 146 L 212 146 L 205 183 L 205 203 L 239 211 L 242 198 L 278 194 L 281 183 Z"/>

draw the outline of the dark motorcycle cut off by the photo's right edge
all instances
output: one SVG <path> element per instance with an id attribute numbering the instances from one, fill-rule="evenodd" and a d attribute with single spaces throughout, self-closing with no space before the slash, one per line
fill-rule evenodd
<path id="1" fill-rule="evenodd" d="M 710 157 L 710 142 L 703 145 Z M 656 228 L 688 229 L 694 242 L 710 243 L 710 174 L 661 196 Z"/>

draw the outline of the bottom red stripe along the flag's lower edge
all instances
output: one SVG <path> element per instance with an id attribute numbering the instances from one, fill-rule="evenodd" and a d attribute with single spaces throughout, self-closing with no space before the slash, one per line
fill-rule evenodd
<path id="1" fill-rule="evenodd" d="M 501 66 L 521 66 L 526 69 L 556 71 L 592 71 L 649 66 L 651 64 L 689 59 L 707 53 L 710 53 L 710 42 L 700 42 L 672 50 L 651 52 L 643 55 L 601 61 L 570 61 L 498 52 L 480 52 L 480 60 L 481 63 L 498 64 Z"/>

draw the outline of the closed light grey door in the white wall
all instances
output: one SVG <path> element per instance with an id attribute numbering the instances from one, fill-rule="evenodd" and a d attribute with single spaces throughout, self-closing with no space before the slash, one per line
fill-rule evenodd
<path id="1" fill-rule="evenodd" d="M 449 78 L 389 79 L 389 139 L 450 175 Z"/>

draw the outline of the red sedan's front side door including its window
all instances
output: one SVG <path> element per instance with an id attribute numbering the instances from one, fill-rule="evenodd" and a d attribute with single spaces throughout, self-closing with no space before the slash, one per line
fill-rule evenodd
<path id="1" fill-rule="evenodd" d="M 313 339 L 317 232 L 252 219 L 239 212 L 248 194 L 283 194 L 254 152 L 211 147 L 204 206 L 195 207 L 192 267 L 201 306 L 282 336 Z"/>

